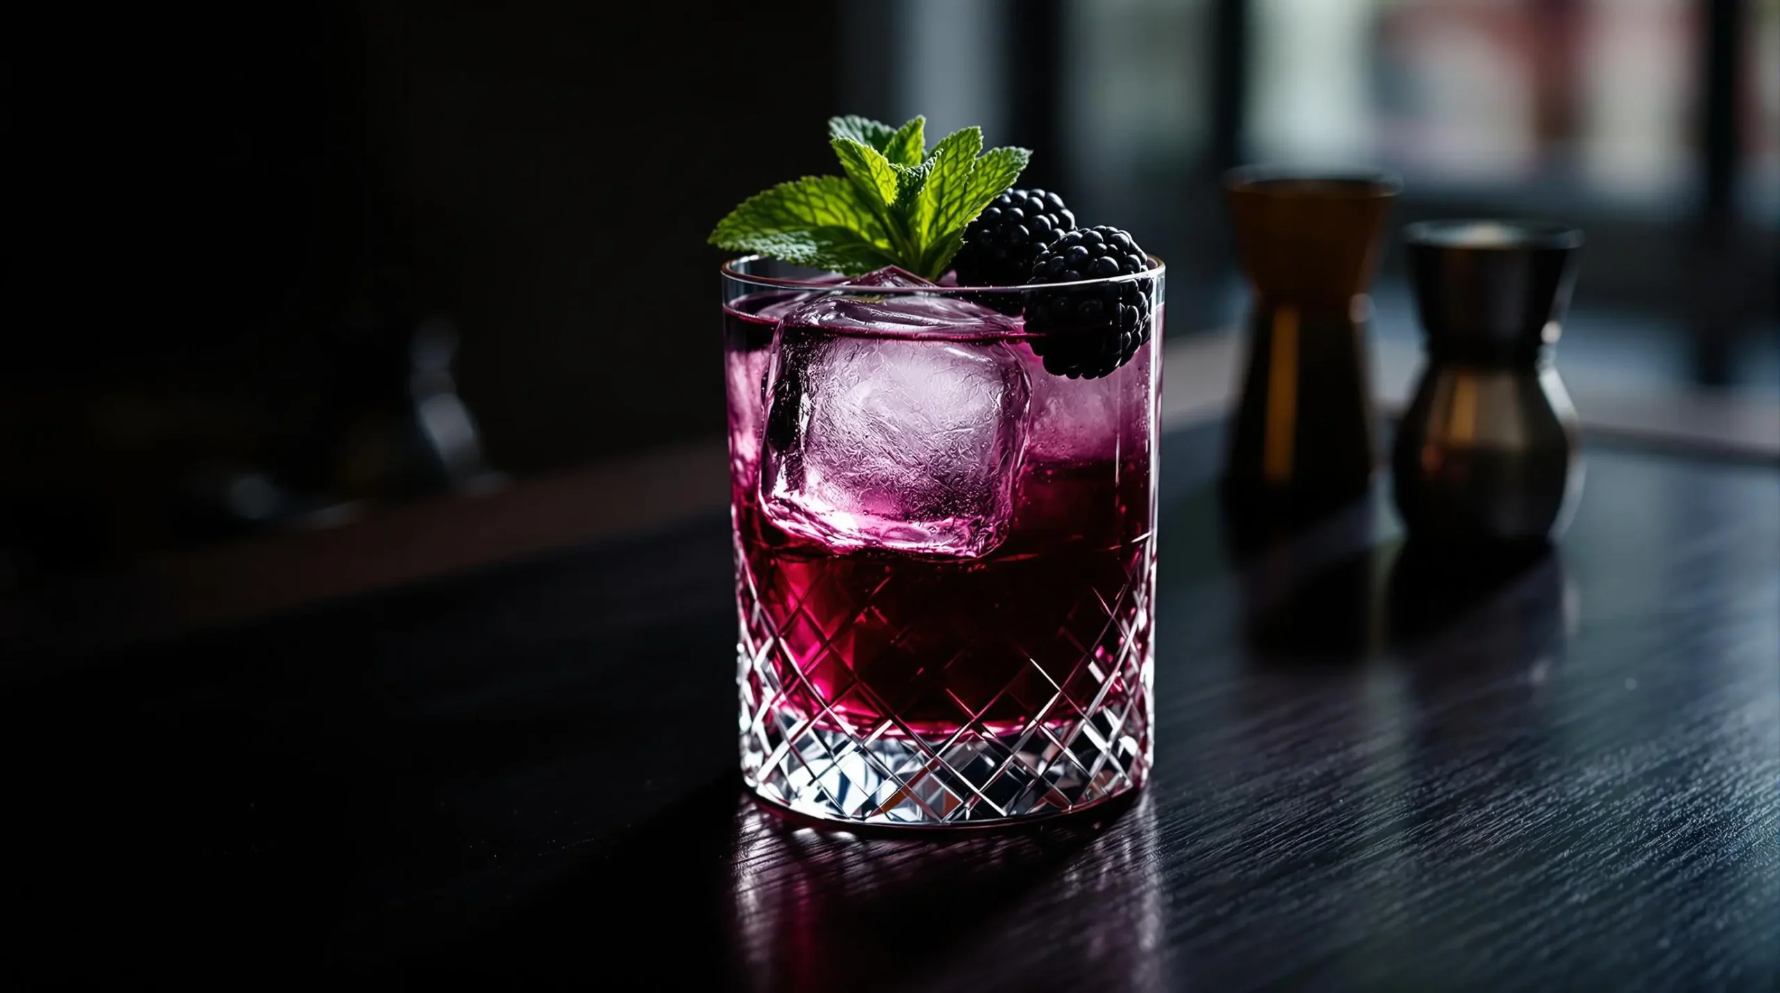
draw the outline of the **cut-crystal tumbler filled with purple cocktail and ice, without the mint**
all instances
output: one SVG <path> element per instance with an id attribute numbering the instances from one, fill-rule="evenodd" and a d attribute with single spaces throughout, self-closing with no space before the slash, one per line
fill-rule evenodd
<path id="1" fill-rule="evenodd" d="M 995 292 L 724 267 L 742 771 L 762 797 L 983 824 L 1145 781 L 1150 265 Z M 1079 377 L 1059 356 L 1109 331 L 1029 320 L 1096 294 L 1116 317 L 1137 288 L 1141 338 Z"/>

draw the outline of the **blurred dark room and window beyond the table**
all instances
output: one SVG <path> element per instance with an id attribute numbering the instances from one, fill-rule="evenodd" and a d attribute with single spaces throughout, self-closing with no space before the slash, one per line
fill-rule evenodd
<path id="1" fill-rule="evenodd" d="M 5 594 L 721 438 L 705 235 L 835 171 L 842 112 L 1032 148 L 1169 262 L 1171 347 L 1241 320 L 1225 169 L 1383 166 L 1392 231 L 1588 231 L 1566 375 L 1780 397 L 1780 0 L 32 5 L 5 44 Z M 1376 290 L 1413 342 L 1396 251 Z"/>

